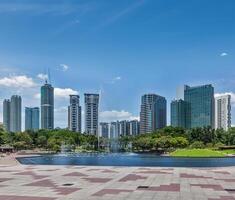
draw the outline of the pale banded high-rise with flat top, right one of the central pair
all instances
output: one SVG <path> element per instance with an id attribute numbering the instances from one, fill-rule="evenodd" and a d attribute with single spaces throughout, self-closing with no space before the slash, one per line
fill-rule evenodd
<path id="1" fill-rule="evenodd" d="M 85 132 L 98 135 L 99 123 L 99 94 L 85 95 Z"/>

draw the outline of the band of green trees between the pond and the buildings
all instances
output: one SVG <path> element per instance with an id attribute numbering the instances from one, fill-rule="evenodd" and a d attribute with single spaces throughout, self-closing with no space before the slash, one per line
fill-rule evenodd
<path id="1" fill-rule="evenodd" d="M 40 148 L 58 152 L 62 145 L 71 149 L 108 149 L 113 143 L 121 151 L 160 151 L 176 148 L 205 148 L 235 145 L 235 128 L 228 131 L 210 127 L 186 130 L 167 126 L 153 133 L 137 136 L 120 136 L 118 139 L 99 139 L 93 135 L 80 134 L 67 129 L 24 131 L 7 133 L 0 126 L 0 145 L 10 145 L 16 150 Z"/>

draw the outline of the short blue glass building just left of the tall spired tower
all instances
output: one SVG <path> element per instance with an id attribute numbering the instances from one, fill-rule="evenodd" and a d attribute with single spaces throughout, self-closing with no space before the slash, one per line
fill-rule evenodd
<path id="1" fill-rule="evenodd" d="M 39 129 L 39 108 L 25 107 L 25 130 L 37 131 Z"/>

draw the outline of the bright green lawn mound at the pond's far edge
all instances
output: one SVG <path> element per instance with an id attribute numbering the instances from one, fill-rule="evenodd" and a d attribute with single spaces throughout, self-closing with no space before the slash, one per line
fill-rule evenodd
<path id="1" fill-rule="evenodd" d="M 170 155 L 175 157 L 224 157 L 227 152 L 212 149 L 178 149 Z"/>

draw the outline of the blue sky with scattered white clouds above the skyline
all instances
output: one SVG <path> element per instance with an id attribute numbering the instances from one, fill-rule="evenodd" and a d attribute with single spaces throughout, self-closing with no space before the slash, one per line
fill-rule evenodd
<path id="1" fill-rule="evenodd" d="M 234 10 L 234 0 L 1 0 L 0 101 L 17 93 L 39 106 L 50 68 L 56 126 L 69 93 L 83 106 L 83 93 L 101 91 L 102 121 L 132 119 L 148 92 L 169 113 L 183 84 L 231 93 L 235 115 Z"/>

